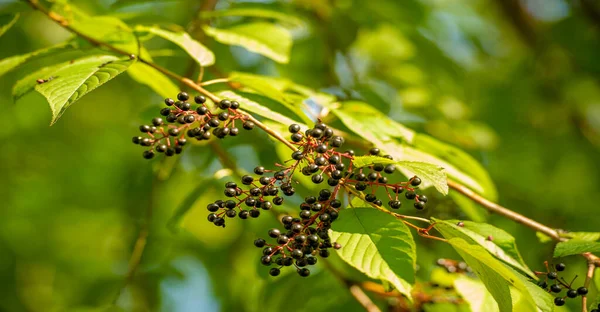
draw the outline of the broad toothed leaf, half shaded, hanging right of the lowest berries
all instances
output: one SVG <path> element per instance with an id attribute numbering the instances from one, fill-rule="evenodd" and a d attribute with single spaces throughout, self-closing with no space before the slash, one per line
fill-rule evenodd
<path id="1" fill-rule="evenodd" d="M 343 209 L 331 240 L 343 246 L 337 253 L 348 264 L 411 298 L 416 247 L 404 223 L 372 208 Z"/>

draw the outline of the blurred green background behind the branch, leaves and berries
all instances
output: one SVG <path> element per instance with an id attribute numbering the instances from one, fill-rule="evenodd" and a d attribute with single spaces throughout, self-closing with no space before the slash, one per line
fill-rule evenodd
<path id="1" fill-rule="evenodd" d="M 0 3 L 0 10 L 20 9 L 13 2 Z M 71 2 L 92 15 L 183 27 L 202 6 L 191 0 Z M 246 6 L 296 15 L 307 27 L 294 30 L 288 65 L 207 40 L 220 71 L 287 77 L 340 99 L 363 99 L 480 160 L 506 207 L 552 227 L 600 228 L 597 2 L 216 3 L 216 9 Z M 25 9 L 0 38 L 0 58 L 67 37 Z M 265 277 L 252 241 L 275 224 L 273 218 L 233 220 L 226 229 L 206 222 L 204 206 L 219 197 L 228 175 L 210 146 L 194 146 L 176 160 L 141 158 L 131 136 L 161 103 L 146 86 L 121 75 L 52 127 L 41 95 L 13 103 L 17 79 L 55 62 L 41 59 L 0 79 L 0 310 L 103 311 L 113 301 L 126 311 L 361 310 L 326 270 L 306 280 Z M 178 52 L 158 62 L 184 72 L 189 60 Z M 259 131 L 222 146 L 245 170 L 277 159 Z M 199 197 L 169 230 L 169 219 L 192 191 Z M 436 216 L 462 216 L 443 207 L 436 214 L 435 204 L 430 209 Z M 531 230 L 489 218 L 517 237 L 532 269 L 551 258 L 552 246 L 539 243 Z M 146 251 L 121 291 L 147 220 Z M 456 257 L 435 242 L 419 241 L 418 249 L 423 280 L 440 254 Z M 565 261 L 573 265 L 569 274 L 583 274 L 583 260 Z"/>

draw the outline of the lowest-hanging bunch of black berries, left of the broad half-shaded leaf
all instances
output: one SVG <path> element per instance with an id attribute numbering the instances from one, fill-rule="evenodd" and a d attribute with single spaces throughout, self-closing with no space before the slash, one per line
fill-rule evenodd
<path id="1" fill-rule="evenodd" d="M 342 246 L 339 243 L 331 242 L 328 230 L 338 218 L 341 205 L 330 190 L 322 189 L 318 198 L 309 196 L 304 199 L 299 218 L 281 218 L 287 232 L 276 228 L 268 231 L 269 237 L 275 240 L 273 244 L 268 244 L 262 238 L 256 239 L 254 245 L 264 247 L 260 262 L 266 266 L 276 266 L 269 270 L 269 274 L 277 276 L 281 268 L 293 265 L 300 276 L 307 277 L 310 270 L 306 266 L 316 264 L 317 255 L 327 258 L 329 248 L 340 249 Z"/>

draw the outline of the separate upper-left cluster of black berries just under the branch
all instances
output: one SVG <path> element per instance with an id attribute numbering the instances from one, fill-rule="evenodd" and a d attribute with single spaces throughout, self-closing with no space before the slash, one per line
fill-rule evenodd
<path id="1" fill-rule="evenodd" d="M 135 136 L 132 141 L 149 148 L 144 151 L 144 158 L 153 158 L 155 152 L 164 153 L 166 156 L 180 154 L 187 143 L 185 134 L 198 141 L 208 140 L 212 136 L 220 139 L 228 135 L 236 136 L 239 133 L 236 120 L 239 120 L 246 130 L 254 128 L 254 123 L 237 111 L 240 104 L 236 101 L 221 100 L 217 105 L 220 111 L 213 112 L 207 107 L 204 96 L 194 97 L 198 107 L 193 107 L 188 102 L 189 99 L 190 96 L 185 92 L 177 94 L 177 101 L 165 99 L 167 107 L 160 110 L 164 119 L 156 117 L 152 119 L 151 125 L 140 126 L 140 131 L 147 137 Z"/>

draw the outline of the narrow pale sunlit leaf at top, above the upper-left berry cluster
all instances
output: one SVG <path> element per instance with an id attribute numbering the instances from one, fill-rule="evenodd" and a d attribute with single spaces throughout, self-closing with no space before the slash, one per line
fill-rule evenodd
<path id="1" fill-rule="evenodd" d="M 148 32 L 173 42 L 187 52 L 202 67 L 215 63 L 214 53 L 184 31 L 168 31 L 156 26 L 137 26 L 136 31 Z"/>

